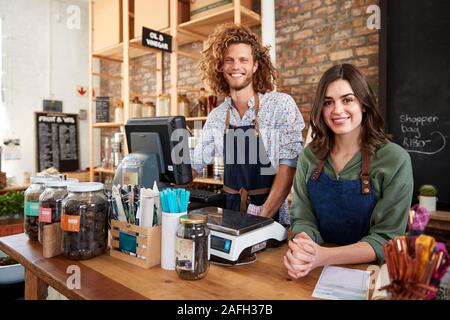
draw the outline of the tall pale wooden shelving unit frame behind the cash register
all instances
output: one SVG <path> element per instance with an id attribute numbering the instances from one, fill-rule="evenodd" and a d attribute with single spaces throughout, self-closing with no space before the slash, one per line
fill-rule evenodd
<path id="1" fill-rule="evenodd" d="M 130 97 L 136 94 L 130 92 L 130 67 L 140 67 L 151 72 L 156 72 L 156 92 L 154 94 L 146 94 L 145 97 L 157 97 L 163 93 L 163 54 L 160 51 L 142 46 L 142 37 L 130 39 L 129 26 L 130 19 L 134 19 L 134 14 L 129 10 L 128 1 L 122 1 L 122 41 L 120 43 L 110 45 L 101 50 L 93 51 L 93 1 L 89 0 L 89 94 L 93 96 L 93 78 L 100 78 L 101 81 L 121 81 L 122 92 L 121 97 L 124 103 L 124 123 L 130 116 Z M 255 0 L 257 1 L 257 0 Z M 172 36 L 172 53 L 170 54 L 170 114 L 177 114 L 178 92 L 180 90 L 196 91 L 197 88 L 191 88 L 178 85 L 178 56 L 188 57 L 193 60 L 200 58 L 200 52 L 192 53 L 185 52 L 179 49 L 180 46 L 197 41 L 205 41 L 217 25 L 226 22 L 240 23 L 246 26 L 256 26 L 261 23 L 261 16 L 248 8 L 241 5 L 240 0 L 235 0 L 234 5 L 227 9 L 215 12 L 208 16 L 204 16 L 195 20 L 178 24 L 178 0 L 169 0 L 170 5 L 170 26 L 168 28 L 160 29 L 161 32 L 170 34 Z M 152 28 L 152 26 L 148 26 Z M 145 55 L 155 54 L 156 65 L 138 65 L 130 60 L 143 57 Z M 121 75 L 108 75 L 93 70 L 94 59 L 105 60 L 120 63 L 122 65 Z M 142 95 L 138 95 L 143 97 Z M 89 127 L 90 127 L 90 167 L 94 168 L 90 172 L 90 179 L 93 181 L 94 173 L 113 174 L 112 169 L 95 168 L 94 164 L 94 129 L 106 128 L 123 128 L 124 123 L 94 123 L 94 100 L 91 99 L 89 103 Z M 206 117 L 191 117 L 187 118 L 188 123 L 196 121 L 206 121 Z M 126 145 L 126 142 L 125 142 Z M 207 184 L 223 184 L 220 180 L 197 178 L 194 182 Z"/>

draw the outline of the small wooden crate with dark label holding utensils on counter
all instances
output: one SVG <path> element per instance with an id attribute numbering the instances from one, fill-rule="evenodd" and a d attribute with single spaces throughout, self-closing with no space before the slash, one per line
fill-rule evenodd
<path id="1" fill-rule="evenodd" d="M 136 236 L 137 257 L 120 249 L 121 232 Z M 109 254 L 117 259 L 149 269 L 161 263 L 161 226 L 153 228 L 138 227 L 126 222 L 111 221 L 111 250 Z"/>

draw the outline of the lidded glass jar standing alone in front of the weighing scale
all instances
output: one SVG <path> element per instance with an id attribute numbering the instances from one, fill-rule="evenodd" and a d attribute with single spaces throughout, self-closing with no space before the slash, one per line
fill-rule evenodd
<path id="1" fill-rule="evenodd" d="M 181 279 L 197 280 L 209 270 L 210 234 L 208 217 L 186 214 L 180 217 L 177 229 L 175 270 Z"/>

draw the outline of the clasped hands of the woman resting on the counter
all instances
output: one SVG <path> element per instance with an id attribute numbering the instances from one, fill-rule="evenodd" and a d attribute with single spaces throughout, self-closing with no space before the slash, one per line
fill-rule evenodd
<path id="1" fill-rule="evenodd" d="M 289 241 L 289 249 L 283 259 L 289 276 L 298 279 L 322 266 L 324 258 L 323 248 L 301 232 Z"/>

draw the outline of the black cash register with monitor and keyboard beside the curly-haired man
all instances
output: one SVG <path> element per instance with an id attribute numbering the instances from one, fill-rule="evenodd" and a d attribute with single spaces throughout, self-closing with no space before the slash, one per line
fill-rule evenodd
<path id="1" fill-rule="evenodd" d="M 157 183 L 159 190 L 192 182 L 188 131 L 182 116 L 130 119 L 125 125 L 129 154 L 118 166 L 114 185 Z M 185 188 L 186 189 L 186 188 Z M 225 196 L 207 190 L 189 189 L 189 210 L 223 206 Z"/>

